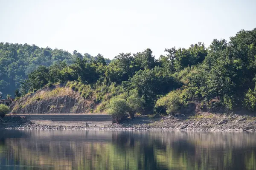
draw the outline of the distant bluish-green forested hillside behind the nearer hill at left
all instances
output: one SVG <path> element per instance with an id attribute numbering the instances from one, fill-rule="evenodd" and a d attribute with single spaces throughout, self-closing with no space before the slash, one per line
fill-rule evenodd
<path id="1" fill-rule="evenodd" d="M 0 99 L 5 98 L 7 94 L 15 97 L 14 92 L 20 88 L 20 82 L 24 82 L 39 65 L 50 66 L 59 62 L 70 65 L 76 57 L 97 60 L 97 56 L 93 57 L 87 53 L 82 55 L 76 50 L 71 54 L 57 48 L 0 42 Z M 106 59 L 106 62 L 110 63 L 110 60 Z"/>

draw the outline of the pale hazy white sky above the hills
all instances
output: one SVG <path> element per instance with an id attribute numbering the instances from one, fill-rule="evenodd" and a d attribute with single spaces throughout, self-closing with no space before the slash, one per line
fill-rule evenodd
<path id="1" fill-rule="evenodd" d="M 256 27 L 256 0 L 0 0 L 0 42 L 113 58 Z"/>

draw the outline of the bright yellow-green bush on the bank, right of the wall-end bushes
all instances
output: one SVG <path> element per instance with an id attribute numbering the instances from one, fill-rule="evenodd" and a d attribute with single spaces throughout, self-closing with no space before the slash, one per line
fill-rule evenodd
<path id="1" fill-rule="evenodd" d="M 175 90 L 158 99 L 156 107 L 163 107 L 166 109 L 166 113 L 174 114 L 175 112 L 179 111 L 180 107 L 183 105 L 182 101 L 182 91 Z"/>

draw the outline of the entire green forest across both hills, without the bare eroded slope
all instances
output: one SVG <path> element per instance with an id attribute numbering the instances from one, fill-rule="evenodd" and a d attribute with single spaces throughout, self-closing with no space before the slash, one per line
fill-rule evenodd
<path id="1" fill-rule="evenodd" d="M 189 102 L 227 110 L 256 110 L 256 28 L 209 47 L 166 48 L 156 59 L 150 48 L 120 53 L 73 54 L 35 45 L 0 44 L 0 91 L 23 96 L 55 84 L 79 91 L 121 121 L 137 112 L 179 112 Z M 4 95 L 3 95 L 4 97 Z M 211 102 L 215 100 L 217 102 Z"/>

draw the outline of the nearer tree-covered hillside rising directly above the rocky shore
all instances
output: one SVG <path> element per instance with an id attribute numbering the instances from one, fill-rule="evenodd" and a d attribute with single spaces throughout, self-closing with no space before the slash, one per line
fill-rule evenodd
<path id="1" fill-rule="evenodd" d="M 229 42 L 214 39 L 208 48 L 198 42 L 164 51 L 159 59 L 150 48 L 120 53 L 109 65 L 101 55 L 90 60 L 75 51 L 70 64 L 41 65 L 28 74 L 20 88 L 24 97 L 17 100 L 24 105 L 16 104 L 15 111 L 81 113 L 90 108 L 91 113 L 111 114 L 116 122 L 134 118 L 135 113 L 183 114 L 189 103 L 201 103 L 206 111 L 256 111 L 256 28 L 239 31 Z M 56 84 L 69 89 L 61 99 L 52 95 L 58 88 L 41 92 Z M 70 89 L 80 96 L 68 94 Z M 81 109 L 71 109 L 78 103 L 75 98 L 84 101 Z M 62 106 L 68 105 L 65 101 L 71 106 Z M 89 107 L 87 101 L 97 107 Z"/>

